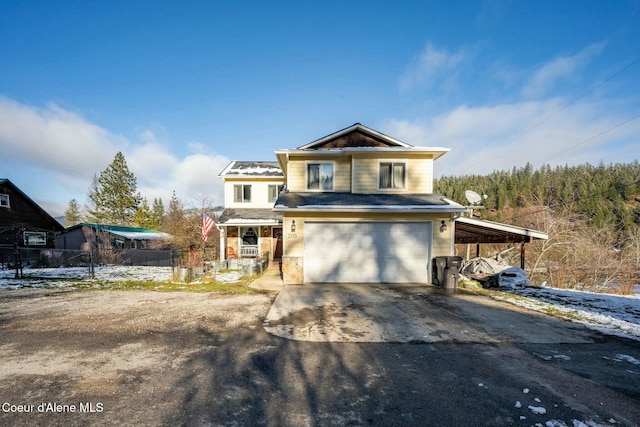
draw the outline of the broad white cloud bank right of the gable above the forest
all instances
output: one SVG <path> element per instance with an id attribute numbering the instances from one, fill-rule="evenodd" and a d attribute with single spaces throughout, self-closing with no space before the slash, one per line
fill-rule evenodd
<path id="1" fill-rule="evenodd" d="M 431 119 L 390 120 L 382 131 L 417 146 L 451 148 L 436 161 L 435 176 L 486 174 L 511 170 L 527 162 L 538 168 L 542 164 L 637 159 L 633 144 L 626 148 L 619 145 L 640 133 L 640 120 L 600 135 L 620 119 L 611 105 L 591 103 L 574 105 L 541 124 L 564 102 L 553 99 L 478 108 L 462 106 Z"/>

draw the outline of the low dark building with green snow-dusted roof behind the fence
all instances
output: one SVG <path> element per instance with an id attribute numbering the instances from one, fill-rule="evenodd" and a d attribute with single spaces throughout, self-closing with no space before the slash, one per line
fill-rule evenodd
<path id="1" fill-rule="evenodd" d="M 76 224 L 56 237 L 57 249 L 88 251 L 108 244 L 117 249 L 158 249 L 171 235 L 151 228 Z"/>

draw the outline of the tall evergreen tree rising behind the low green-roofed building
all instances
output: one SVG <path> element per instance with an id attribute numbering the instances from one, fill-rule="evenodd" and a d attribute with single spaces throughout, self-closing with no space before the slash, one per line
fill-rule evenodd
<path id="1" fill-rule="evenodd" d="M 95 188 L 89 191 L 90 215 L 94 222 L 131 225 L 140 205 L 136 177 L 129 171 L 124 155 L 118 152 L 113 162 L 100 173 Z"/>

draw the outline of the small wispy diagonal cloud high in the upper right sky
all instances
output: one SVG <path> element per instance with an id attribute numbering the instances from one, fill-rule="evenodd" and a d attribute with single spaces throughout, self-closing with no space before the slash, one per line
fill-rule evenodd
<path id="1" fill-rule="evenodd" d="M 573 56 L 560 56 L 539 67 L 527 80 L 521 93 L 526 98 L 545 95 L 563 79 L 574 77 L 604 49 L 604 43 L 587 46 Z"/>

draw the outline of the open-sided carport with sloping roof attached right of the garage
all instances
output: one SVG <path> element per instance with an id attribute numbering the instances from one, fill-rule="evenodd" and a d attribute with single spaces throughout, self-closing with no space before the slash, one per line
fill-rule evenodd
<path id="1" fill-rule="evenodd" d="M 455 243 L 476 244 L 476 256 L 480 256 L 482 243 L 520 243 L 520 268 L 522 269 L 524 269 L 526 244 L 534 239 L 549 238 L 541 231 L 476 218 L 459 217 L 454 224 Z"/>

